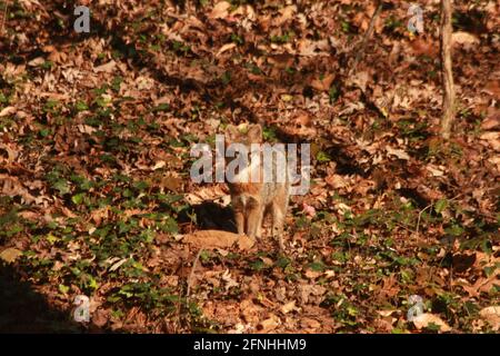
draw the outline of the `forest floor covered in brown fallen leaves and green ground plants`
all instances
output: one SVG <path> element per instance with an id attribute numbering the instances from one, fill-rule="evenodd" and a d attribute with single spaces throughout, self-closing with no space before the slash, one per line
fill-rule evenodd
<path id="1" fill-rule="evenodd" d="M 0 330 L 498 332 L 499 7 L 454 1 L 444 142 L 419 2 L 422 34 L 386 1 L 363 48 L 370 1 L 82 0 L 77 33 L 71 1 L 0 0 Z M 311 145 L 281 253 L 189 177 L 241 122 Z"/>

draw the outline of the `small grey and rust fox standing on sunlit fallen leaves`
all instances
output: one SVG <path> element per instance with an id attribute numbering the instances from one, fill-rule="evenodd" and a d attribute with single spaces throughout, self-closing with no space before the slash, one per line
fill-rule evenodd
<path id="1" fill-rule="evenodd" d="M 250 152 L 252 144 L 263 144 L 262 128 L 258 123 L 239 127 L 229 125 L 226 128 L 224 141 L 226 146 L 231 144 L 243 145 Z M 226 160 L 227 162 L 231 161 L 228 158 Z M 280 250 L 283 250 L 283 227 L 290 199 L 288 172 L 284 174 L 286 179 L 281 179 L 283 181 L 276 179 L 278 160 L 273 158 L 272 166 L 267 167 L 272 170 L 272 179 L 271 181 L 264 181 L 262 179 L 264 175 L 262 161 L 262 159 L 258 164 L 251 161 L 246 169 L 236 174 L 237 177 L 232 182 L 227 181 L 236 227 L 239 235 L 247 235 L 259 240 L 262 237 L 264 217 L 271 216 L 272 238 L 278 240 Z M 287 169 L 284 170 L 287 171 Z M 249 179 L 252 174 L 256 174 L 259 179 Z"/>

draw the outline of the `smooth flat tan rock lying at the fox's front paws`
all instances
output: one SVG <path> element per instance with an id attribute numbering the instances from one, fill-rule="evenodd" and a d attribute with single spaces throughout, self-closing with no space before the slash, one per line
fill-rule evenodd
<path id="1" fill-rule="evenodd" d="M 183 241 L 198 248 L 229 248 L 238 244 L 239 249 L 250 249 L 254 241 L 246 236 L 222 230 L 201 230 L 184 236 Z"/>

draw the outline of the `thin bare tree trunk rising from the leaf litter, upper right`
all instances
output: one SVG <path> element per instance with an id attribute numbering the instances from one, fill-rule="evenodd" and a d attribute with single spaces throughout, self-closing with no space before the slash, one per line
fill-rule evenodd
<path id="1" fill-rule="evenodd" d="M 454 85 L 451 68 L 451 0 L 441 0 L 441 63 L 442 63 L 442 118 L 441 136 L 450 138 L 454 121 Z"/>

